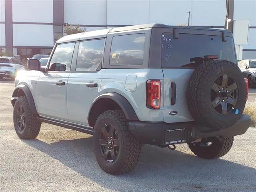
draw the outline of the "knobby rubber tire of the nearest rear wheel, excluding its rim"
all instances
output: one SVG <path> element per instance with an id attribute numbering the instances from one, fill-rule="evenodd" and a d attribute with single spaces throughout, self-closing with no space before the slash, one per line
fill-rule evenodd
<path id="1" fill-rule="evenodd" d="M 119 152 L 114 162 L 108 162 L 100 152 L 100 134 L 102 126 L 108 121 L 114 122 L 120 133 Z M 113 121 L 114 120 L 114 121 Z M 94 125 L 93 132 L 94 153 L 100 167 L 109 174 L 123 174 L 130 172 L 140 157 L 142 142 L 136 139 L 130 132 L 128 122 L 122 110 L 108 110 L 100 114 Z"/>

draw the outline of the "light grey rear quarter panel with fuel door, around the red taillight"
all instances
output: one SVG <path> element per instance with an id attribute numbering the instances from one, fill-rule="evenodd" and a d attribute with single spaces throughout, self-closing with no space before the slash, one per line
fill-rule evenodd
<path id="1" fill-rule="evenodd" d="M 161 80 L 161 108 L 159 110 L 146 106 L 146 82 L 150 79 Z M 106 69 L 100 94 L 116 92 L 124 96 L 134 108 L 140 121 L 163 121 L 163 79 L 162 69 Z"/>

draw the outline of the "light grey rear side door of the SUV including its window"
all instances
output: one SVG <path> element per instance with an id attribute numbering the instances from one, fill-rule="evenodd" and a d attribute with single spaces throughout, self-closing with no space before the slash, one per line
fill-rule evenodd
<path id="1" fill-rule="evenodd" d="M 93 100 L 100 94 L 104 70 L 101 69 L 105 39 L 77 42 L 75 71 L 68 78 L 69 122 L 88 126 L 87 116 Z"/>

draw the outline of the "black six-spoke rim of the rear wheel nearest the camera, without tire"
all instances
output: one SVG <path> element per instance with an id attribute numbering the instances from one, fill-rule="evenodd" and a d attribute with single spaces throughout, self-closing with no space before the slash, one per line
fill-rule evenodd
<path id="1" fill-rule="evenodd" d="M 102 127 L 99 144 L 100 152 L 106 161 L 113 162 L 116 160 L 120 143 L 114 126 L 105 124 Z"/>

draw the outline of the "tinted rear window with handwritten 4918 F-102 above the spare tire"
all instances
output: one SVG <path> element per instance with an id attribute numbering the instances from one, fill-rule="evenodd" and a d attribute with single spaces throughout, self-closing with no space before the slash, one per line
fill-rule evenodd
<path id="1" fill-rule="evenodd" d="M 162 68 L 194 68 L 196 63 L 190 59 L 204 58 L 207 55 L 217 55 L 218 59 L 236 63 L 233 38 L 226 39 L 226 42 L 222 42 L 221 36 L 198 34 L 179 34 L 179 38 L 174 39 L 172 33 L 163 33 L 161 37 Z"/>

